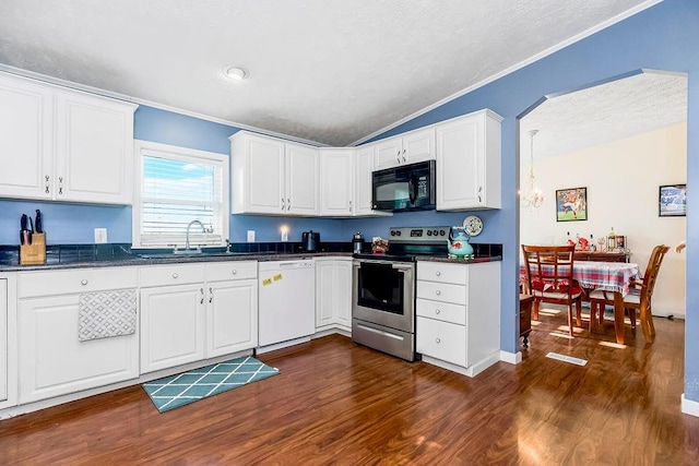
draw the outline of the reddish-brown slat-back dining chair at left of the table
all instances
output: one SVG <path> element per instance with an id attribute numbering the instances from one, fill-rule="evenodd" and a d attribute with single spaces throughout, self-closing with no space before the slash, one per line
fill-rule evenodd
<path id="1" fill-rule="evenodd" d="M 572 304 L 576 324 L 582 326 L 582 289 L 572 278 L 574 246 L 526 246 L 522 253 L 526 270 L 526 285 L 534 296 L 532 314 L 538 320 L 542 302 L 568 306 L 568 331 L 572 336 Z"/>

